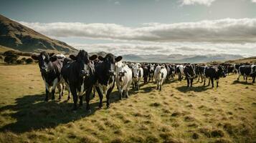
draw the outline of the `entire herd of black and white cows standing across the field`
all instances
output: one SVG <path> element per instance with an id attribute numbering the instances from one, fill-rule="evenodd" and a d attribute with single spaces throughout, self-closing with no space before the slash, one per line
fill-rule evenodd
<path id="1" fill-rule="evenodd" d="M 90 111 L 90 94 L 98 92 L 100 97 L 99 107 L 103 107 L 103 95 L 107 98 L 107 107 L 110 106 L 110 93 L 113 88 L 118 87 L 120 99 L 128 97 L 128 91 L 131 87 L 139 90 L 141 80 L 144 84 L 156 80 L 157 89 L 161 90 L 165 79 L 174 79 L 178 75 L 179 81 L 185 77 L 187 87 L 192 87 L 193 80 L 198 78 L 201 82 L 209 79 L 214 87 L 214 79 L 217 81 L 217 87 L 220 77 L 226 77 L 231 72 L 239 74 L 237 80 L 242 75 L 244 79 L 252 77 L 255 82 L 256 65 L 255 64 L 133 64 L 122 62 L 122 56 L 115 57 L 113 54 L 103 56 L 89 56 L 86 51 L 80 50 L 77 56 L 70 55 L 66 58 L 63 54 L 48 54 L 42 51 L 39 55 L 32 55 L 32 59 L 38 60 L 39 69 L 45 84 L 45 101 L 48 101 L 50 87 L 52 87 L 52 99 L 54 99 L 55 89 L 63 96 L 66 88 L 68 99 L 70 92 L 73 97 L 74 107 L 77 109 L 77 98 L 80 99 L 82 106 L 82 95 L 85 94 L 86 109 Z M 208 84 L 208 85 L 209 85 Z"/>

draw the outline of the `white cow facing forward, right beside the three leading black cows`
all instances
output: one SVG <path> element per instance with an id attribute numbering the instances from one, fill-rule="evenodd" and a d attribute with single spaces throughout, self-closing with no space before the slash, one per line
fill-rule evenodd
<path id="1" fill-rule="evenodd" d="M 116 85 L 118 86 L 118 91 L 120 93 L 120 99 L 122 99 L 123 94 L 125 94 L 128 98 L 128 92 L 132 83 L 133 76 L 131 69 L 128 67 L 127 64 L 123 64 L 122 61 L 118 61 L 115 64 L 115 73 L 115 81 Z"/>

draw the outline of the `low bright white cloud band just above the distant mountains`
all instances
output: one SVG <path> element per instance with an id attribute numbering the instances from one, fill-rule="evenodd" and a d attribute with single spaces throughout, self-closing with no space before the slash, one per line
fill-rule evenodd
<path id="1" fill-rule="evenodd" d="M 77 49 L 85 51 L 107 51 L 116 55 L 124 54 L 240 54 L 254 56 L 256 43 L 250 44 L 212 44 L 194 42 L 169 42 L 169 43 L 105 43 L 105 44 L 70 44 Z"/>

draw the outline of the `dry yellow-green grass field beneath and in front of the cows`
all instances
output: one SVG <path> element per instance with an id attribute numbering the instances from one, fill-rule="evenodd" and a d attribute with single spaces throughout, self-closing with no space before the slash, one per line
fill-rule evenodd
<path id="1" fill-rule="evenodd" d="M 85 104 L 71 111 L 67 92 L 43 102 L 37 64 L 0 65 L 0 142 L 256 142 L 256 84 L 236 78 L 218 89 L 174 80 L 159 92 L 149 83 L 122 101 L 115 89 L 110 109 L 98 109 L 96 96 L 87 114 Z"/>

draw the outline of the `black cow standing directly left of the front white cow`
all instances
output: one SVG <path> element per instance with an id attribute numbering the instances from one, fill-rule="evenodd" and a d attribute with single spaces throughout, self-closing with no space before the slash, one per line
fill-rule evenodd
<path id="1" fill-rule="evenodd" d="M 115 87 L 115 63 L 122 59 L 122 56 L 115 58 L 113 54 L 106 54 L 105 57 L 99 56 L 100 62 L 95 64 L 96 71 L 96 90 L 100 97 L 99 107 L 103 107 L 103 95 L 107 98 L 107 107 L 110 107 L 110 93 Z"/>

